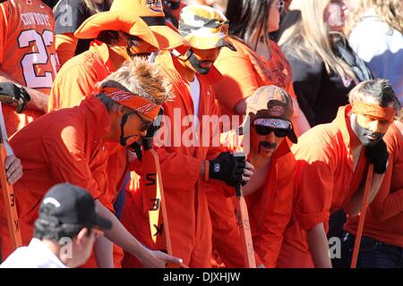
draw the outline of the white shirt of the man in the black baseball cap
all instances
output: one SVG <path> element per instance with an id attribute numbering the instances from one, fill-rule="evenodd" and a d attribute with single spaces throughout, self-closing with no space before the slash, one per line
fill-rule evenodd
<path id="1" fill-rule="evenodd" d="M 28 247 L 17 248 L 0 268 L 69 268 L 42 241 L 30 240 Z"/>

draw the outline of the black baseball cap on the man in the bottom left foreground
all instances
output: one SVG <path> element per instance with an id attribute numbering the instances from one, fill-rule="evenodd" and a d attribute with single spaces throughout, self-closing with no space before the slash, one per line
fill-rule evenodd
<path id="1" fill-rule="evenodd" d="M 47 191 L 39 206 L 39 218 L 57 224 L 78 224 L 109 230 L 112 223 L 97 214 L 95 202 L 86 189 L 61 183 Z"/>

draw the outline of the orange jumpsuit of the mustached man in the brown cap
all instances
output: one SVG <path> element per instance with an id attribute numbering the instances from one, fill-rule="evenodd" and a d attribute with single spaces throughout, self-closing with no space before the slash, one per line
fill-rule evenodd
<path id="1" fill-rule="evenodd" d="M 221 135 L 221 144 L 229 150 L 239 150 L 242 136 L 230 131 Z M 294 196 L 296 160 L 284 140 L 271 157 L 264 188 L 245 197 L 253 236 L 257 265 L 275 267 L 283 240 L 283 232 L 290 220 Z M 229 187 L 225 187 L 228 189 Z M 227 267 L 244 267 L 244 255 L 231 198 L 224 198 L 217 186 L 203 182 L 207 189 L 212 220 L 213 246 Z M 224 191 L 224 194 L 228 191 Z M 226 201 L 227 204 L 223 204 Z M 226 207 L 227 206 L 227 207 Z"/>

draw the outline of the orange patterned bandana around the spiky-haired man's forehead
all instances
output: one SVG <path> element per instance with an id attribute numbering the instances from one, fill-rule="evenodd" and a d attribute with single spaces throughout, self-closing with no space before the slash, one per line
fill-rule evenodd
<path id="1" fill-rule="evenodd" d="M 112 100 L 120 105 L 124 105 L 134 111 L 145 114 L 154 119 L 159 114 L 159 105 L 154 104 L 150 100 L 139 97 L 131 92 L 124 91 L 119 88 L 102 88 L 100 93 L 106 94 Z"/>

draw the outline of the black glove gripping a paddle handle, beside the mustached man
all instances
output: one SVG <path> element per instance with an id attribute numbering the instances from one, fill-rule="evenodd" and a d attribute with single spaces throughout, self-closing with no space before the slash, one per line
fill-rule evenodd
<path id="1" fill-rule="evenodd" d="M 221 153 L 210 160 L 209 178 L 224 181 L 229 187 L 243 184 L 242 175 L 245 167 L 244 156 L 234 156 L 229 152 Z"/>

